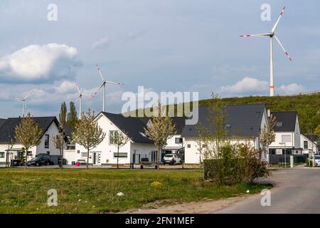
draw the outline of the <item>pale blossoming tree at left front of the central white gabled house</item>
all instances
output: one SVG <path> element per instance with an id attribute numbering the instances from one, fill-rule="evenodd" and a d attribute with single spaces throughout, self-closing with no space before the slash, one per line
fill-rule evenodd
<path id="1" fill-rule="evenodd" d="M 95 113 L 87 110 L 81 115 L 73 131 L 73 142 L 78 143 L 87 149 L 87 169 L 89 169 L 89 152 L 97 147 L 105 139 L 105 133 L 95 121 Z"/>

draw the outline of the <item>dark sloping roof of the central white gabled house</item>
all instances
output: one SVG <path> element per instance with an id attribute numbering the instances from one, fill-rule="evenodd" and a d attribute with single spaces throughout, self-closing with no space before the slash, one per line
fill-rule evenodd
<path id="1" fill-rule="evenodd" d="M 146 128 L 145 121 L 140 120 L 140 118 L 134 117 L 124 117 L 122 114 L 114 114 L 114 113 L 104 113 L 105 117 L 107 117 L 114 125 L 117 126 L 124 133 L 127 133 L 127 136 L 131 138 L 134 142 L 142 142 L 142 143 L 153 143 L 148 137 L 143 135 L 144 128 Z"/>

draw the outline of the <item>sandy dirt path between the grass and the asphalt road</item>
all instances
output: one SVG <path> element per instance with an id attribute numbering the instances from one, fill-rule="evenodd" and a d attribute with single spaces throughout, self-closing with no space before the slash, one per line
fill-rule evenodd
<path id="1" fill-rule="evenodd" d="M 242 199 L 247 199 L 250 195 L 241 197 L 231 197 L 227 199 L 207 200 L 201 202 L 189 202 L 185 204 L 174 204 L 169 206 L 156 206 L 156 204 L 146 204 L 141 209 L 129 209 L 124 214 L 206 214 L 223 207 L 235 204 Z"/>

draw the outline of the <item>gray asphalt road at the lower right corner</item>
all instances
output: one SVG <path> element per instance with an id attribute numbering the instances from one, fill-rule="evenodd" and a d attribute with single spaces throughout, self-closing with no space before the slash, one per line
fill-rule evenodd
<path id="1" fill-rule="evenodd" d="M 263 195 L 252 195 L 211 213 L 320 213 L 320 168 L 298 166 L 277 170 L 262 182 L 275 185 L 270 191 L 270 207 L 262 207 Z"/>

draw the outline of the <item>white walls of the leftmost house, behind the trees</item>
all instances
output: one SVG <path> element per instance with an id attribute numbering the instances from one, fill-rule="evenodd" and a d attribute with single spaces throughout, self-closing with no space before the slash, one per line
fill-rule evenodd
<path id="1" fill-rule="evenodd" d="M 53 142 L 51 141 L 51 138 L 55 135 L 58 135 L 58 133 L 59 133 L 58 127 L 55 124 L 55 122 L 51 123 L 48 130 L 46 130 L 46 132 L 43 133 L 40 144 L 36 147 L 31 147 L 28 149 L 28 152 L 31 152 L 31 155 L 30 154 L 28 155 L 28 160 L 31 160 L 33 157 L 36 157 L 36 155 L 42 154 L 42 153 L 50 154 L 50 155 L 60 155 L 60 150 L 55 148 L 55 146 L 53 145 Z M 46 137 L 49 138 L 48 147 L 45 146 Z M 19 158 L 18 151 L 21 151 L 22 147 L 23 145 L 17 143 L 14 145 L 14 147 L 11 148 L 11 155 L 9 155 L 9 161 L 11 159 Z M 1 164 L 6 162 L 6 155 L 7 155 L 6 150 L 8 150 L 8 148 L 9 148 L 8 144 L 4 144 L 4 143 L 0 144 L 0 154 L 1 154 L 0 163 Z M 4 156 L 2 156 L 3 154 Z"/>

